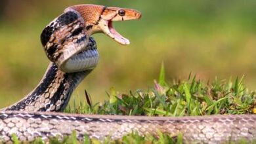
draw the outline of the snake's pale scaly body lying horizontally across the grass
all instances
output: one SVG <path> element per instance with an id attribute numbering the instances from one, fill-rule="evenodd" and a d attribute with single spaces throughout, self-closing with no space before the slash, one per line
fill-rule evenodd
<path id="1" fill-rule="evenodd" d="M 217 115 L 204 117 L 129 117 L 104 115 L 73 115 L 63 113 L 0 112 L 0 132 L 3 141 L 10 141 L 14 133 L 21 141 L 42 137 L 71 135 L 83 140 L 85 134 L 104 140 L 119 139 L 131 132 L 140 135 L 158 135 L 158 132 L 175 137 L 183 134 L 185 143 L 222 143 L 253 139 L 256 136 L 256 115 Z"/>

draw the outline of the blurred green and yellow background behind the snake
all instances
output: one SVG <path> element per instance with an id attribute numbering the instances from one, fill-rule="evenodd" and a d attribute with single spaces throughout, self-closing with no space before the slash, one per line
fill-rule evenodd
<path id="1" fill-rule="evenodd" d="M 129 46 L 94 35 L 100 62 L 74 96 L 83 98 L 86 89 L 96 102 L 112 86 L 119 92 L 146 90 L 158 79 L 161 62 L 169 82 L 190 72 L 203 81 L 245 75 L 245 84 L 256 89 L 255 0 L 1 0 L 1 107 L 28 94 L 43 77 L 49 63 L 39 40 L 43 27 L 81 3 L 137 9 L 142 19 L 114 24 Z"/>

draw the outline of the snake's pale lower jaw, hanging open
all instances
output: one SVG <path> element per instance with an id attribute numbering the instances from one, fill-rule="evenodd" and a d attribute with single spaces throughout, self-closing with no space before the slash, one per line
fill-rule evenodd
<path id="1" fill-rule="evenodd" d="M 108 21 L 108 27 L 103 29 L 104 33 L 120 43 L 121 45 L 129 45 L 130 41 L 129 39 L 126 39 L 125 37 L 121 36 L 116 29 L 113 27 L 112 21 Z"/>

